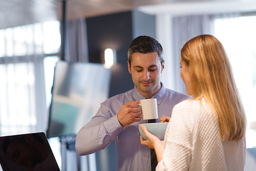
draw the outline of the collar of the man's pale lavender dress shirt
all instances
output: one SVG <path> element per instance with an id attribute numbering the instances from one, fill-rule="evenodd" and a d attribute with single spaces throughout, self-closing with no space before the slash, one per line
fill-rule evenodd
<path id="1" fill-rule="evenodd" d="M 164 96 L 165 91 L 166 91 L 166 88 L 163 86 L 163 83 L 162 82 L 160 82 L 160 83 L 161 83 L 160 90 L 152 97 L 152 98 L 157 99 L 157 104 L 158 105 L 161 104 L 161 101 L 162 101 L 163 96 Z M 145 97 L 138 92 L 136 86 L 134 86 L 134 89 L 133 89 L 133 96 L 137 101 L 139 101 L 141 99 L 145 99 Z"/>

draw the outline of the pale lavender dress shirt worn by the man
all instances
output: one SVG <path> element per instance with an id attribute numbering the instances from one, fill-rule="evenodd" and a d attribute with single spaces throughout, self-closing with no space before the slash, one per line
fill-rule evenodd
<path id="1" fill-rule="evenodd" d="M 173 107 L 189 96 L 166 89 L 161 89 L 152 98 L 158 101 L 158 119 L 162 115 L 170 116 Z M 136 87 L 133 90 L 116 95 L 101 103 L 101 107 L 92 120 L 84 125 L 76 137 L 76 151 L 79 155 L 89 155 L 104 149 L 116 141 L 118 170 L 145 171 L 151 170 L 150 148 L 140 143 L 138 124 L 147 120 L 134 122 L 122 127 L 117 119 L 121 106 L 132 100 L 145 99 Z"/>

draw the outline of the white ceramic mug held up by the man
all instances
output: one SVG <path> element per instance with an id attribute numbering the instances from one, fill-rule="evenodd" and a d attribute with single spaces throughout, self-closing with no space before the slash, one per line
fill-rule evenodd
<path id="1" fill-rule="evenodd" d="M 158 119 L 157 99 L 143 99 L 139 103 L 142 120 Z"/>

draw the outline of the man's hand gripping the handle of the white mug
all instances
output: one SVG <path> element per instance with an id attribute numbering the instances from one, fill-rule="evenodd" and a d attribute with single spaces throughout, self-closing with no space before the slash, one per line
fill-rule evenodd
<path id="1" fill-rule="evenodd" d="M 117 114 L 121 126 L 128 126 L 141 120 L 141 112 L 138 103 L 139 101 L 130 101 L 121 107 Z"/>

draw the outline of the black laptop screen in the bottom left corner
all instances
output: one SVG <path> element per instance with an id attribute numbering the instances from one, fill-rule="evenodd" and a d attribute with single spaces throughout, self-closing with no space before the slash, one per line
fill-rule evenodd
<path id="1" fill-rule="evenodd" d="M 60 171 L 45 133 L 0 137 L 3 171 Z"/>

